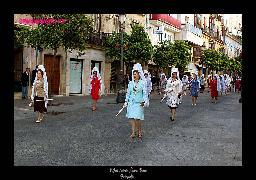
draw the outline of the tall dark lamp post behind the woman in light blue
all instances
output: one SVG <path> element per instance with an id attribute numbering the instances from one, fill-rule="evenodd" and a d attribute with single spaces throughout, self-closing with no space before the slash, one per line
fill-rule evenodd
<path id="1" fill-rule="evenodd" d="M 121 23 L 121 45 L 120 45 L 120 50 L 121 50 L 121 61 L 120 61 L 120 79 L 119 79 L 119 84 L 118 84 L 118 96 L 116 98 L 117 103 L 124 103 L 125 98 L 123 96 L 124 92 L 124 84 L 123 84 L 123 23 L 125 21 L 125 14 L 119 14 L 119 22 Z"/>

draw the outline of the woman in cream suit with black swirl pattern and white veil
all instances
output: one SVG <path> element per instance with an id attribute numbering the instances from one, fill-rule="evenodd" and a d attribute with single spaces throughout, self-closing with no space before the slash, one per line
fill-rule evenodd
<path id="1" fill-rule="evenodd" d="M 174 120 L 174 114 L 176 111 L 176 108 L 178 107 L 178 95 L 181 94 L 180 97 L 182 97 L 182 85 L 181 81 L 179 80 L 179 71 L 178 68 L 172 69 L 172 78 L 169 78 L 168 83 L 166 85 L 165 91 L 164 91 L 164 97 L 167 96 L 167 104 L 168 107 L 171 109 L 171 121 Z"/>

